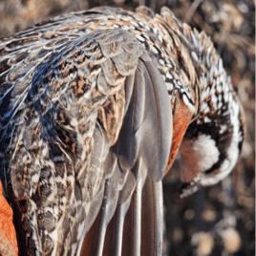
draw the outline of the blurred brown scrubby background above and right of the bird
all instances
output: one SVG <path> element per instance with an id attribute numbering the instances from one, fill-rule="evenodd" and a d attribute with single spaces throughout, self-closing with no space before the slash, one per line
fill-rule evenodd
<path id="1" fill-rule="evenodd" d="M 232 174 L 181 200 L 179 156 L 163 181 L 164 255 L 256 255 L 256 0 L 0 0 L 0 37 L 49 17 L 117 6 L 169 7 L 183 21 L 211 36 L 245 108 L 246 141 Z"/>

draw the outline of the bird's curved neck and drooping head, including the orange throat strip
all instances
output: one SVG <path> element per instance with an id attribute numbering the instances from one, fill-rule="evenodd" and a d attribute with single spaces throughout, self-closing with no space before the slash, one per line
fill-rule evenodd
<path id="1" fill-rule="evenodd" d="M 180 150 L 183 197 L 222 181 L 234 168 L 245 139 L 244 112 L 211 39 L 182 24 L 167 8 L 161 16 L 179 50 L 181 86 L 175 83 L 178 93 L 172 97 L 173 139 L 166 170 Z"/>

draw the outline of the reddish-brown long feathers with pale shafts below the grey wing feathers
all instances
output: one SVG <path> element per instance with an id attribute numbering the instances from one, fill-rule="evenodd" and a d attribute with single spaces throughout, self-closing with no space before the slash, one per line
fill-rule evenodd
<path id="1" fill-rule="evenodd" d="M 105 205 L 103 201 L 103 208 Z M 102 214 L 102 209 L 99 211 L 85 237 L 80 256 L 161 255 L 162 214 L 161 181 L 147 178 L 126 203 L 117 203 L 109 224 L 108 214 Z"/>

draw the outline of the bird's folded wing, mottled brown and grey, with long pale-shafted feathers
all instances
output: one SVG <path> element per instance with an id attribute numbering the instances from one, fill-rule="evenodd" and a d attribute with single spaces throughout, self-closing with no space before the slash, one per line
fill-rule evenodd
<path id="1" fill-rule="evenodd" d="M 42 38 L 0 59 L 1 179 L 20 255 L 160 255 L 172 139 L 160 72 L 120 29 Z"/>

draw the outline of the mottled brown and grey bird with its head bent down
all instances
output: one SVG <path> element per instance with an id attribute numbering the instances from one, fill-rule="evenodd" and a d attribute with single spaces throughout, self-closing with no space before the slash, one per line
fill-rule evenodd
<path id="1" fill-rule="evenodd" d="M 0 41 L 0 177 L 19 255 L 161 255 L 161 181 L 222 181 L 243 107 L 210 37 L 160 14 L 100 7 Z"/>

